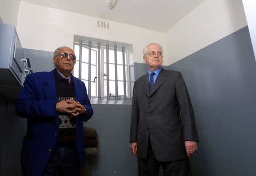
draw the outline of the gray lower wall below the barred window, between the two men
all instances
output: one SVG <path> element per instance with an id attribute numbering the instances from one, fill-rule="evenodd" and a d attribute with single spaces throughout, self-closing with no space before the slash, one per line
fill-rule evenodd
<path id="1" fill-rule="evenodd" d="M 100 136 L 92 175 L 137 175 L 137 158 L 129 148 L 131 105 L 92 106 L 94 115 L 86 126 L 96 128 Z"/>

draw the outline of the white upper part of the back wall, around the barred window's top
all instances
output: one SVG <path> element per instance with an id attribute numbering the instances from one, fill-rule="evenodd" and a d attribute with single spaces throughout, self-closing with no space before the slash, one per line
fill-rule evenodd
<path id="1" fill-rule="evenodd" d="M 18 28 L 23 48 L 54 51 L 59 46 L 73 48 L 74 35 L 133 44 L 134 62 L 143 62 L 144 45 L 156 41 L 164 44 L 165 33 L 132 25 L 110 22 L 110 29 L 97 26 L 97 18 L 57 10 L 21 1 Z"/>

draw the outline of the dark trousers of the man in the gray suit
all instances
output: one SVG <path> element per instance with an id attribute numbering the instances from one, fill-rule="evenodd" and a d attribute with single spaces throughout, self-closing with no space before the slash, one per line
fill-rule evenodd
<path id="1" fill-rule="evenodd" d="M 158 176 L 160 165 L 163 168 L 164 176 L 191 176 L 191 168 L 188 159 L 168 162 L 156 160 L 149 139 L 147 158 L 142 159 L 138 157 L 138 175 Z"/>

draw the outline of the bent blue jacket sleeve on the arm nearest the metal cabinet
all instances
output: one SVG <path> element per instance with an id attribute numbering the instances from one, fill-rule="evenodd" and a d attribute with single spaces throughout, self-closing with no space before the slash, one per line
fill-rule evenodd
<path id="1" fill-rule="evenodd" d="M 38 100 L 34 79 L 33 74 L 27 75 L 24 88 L 14 101 L 16 114 L 23 118 L 55 117 L 57 100 Z"/>

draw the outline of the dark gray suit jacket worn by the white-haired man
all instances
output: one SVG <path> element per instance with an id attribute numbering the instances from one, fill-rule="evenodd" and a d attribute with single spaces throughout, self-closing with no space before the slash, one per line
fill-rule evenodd
<path id="1" fill-rule="evenodd" d="M 195 117 L 183 77 L 178 71 L 160 71 L 151 93 L 148 75 L 134 83 L 130 142 L 138 157 L 147 157 L 148 138 L 158 161 L 187 158 L 184 141 L 198 141 Z"/>

